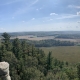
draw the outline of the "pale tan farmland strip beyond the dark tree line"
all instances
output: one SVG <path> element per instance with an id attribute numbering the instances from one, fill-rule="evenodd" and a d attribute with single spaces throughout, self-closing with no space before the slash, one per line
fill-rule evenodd
<path id="1" fill-rule="evenodd" d="M 60 40 L 60 41 L 71 41 L 71 42 L 80 42 L 80 39 L 61 39 L 61 38 L 55 38 L 54 36 L 44 36 L 44 37 L 37 37 L 33 35 L 26 35 L 26 36 L 16 36 L 16 37 L 11 37 L 11 39 L 28 39 L 28 40 L 47 40 L 47 39 L 55 39 L 55 40 Z"/>

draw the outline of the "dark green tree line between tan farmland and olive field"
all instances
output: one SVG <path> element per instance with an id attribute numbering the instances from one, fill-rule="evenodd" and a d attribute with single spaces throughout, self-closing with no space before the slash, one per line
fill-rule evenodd
<path id="1" fill-rule="evenodd" d="M 60 41 L 54 39 L 40 40 L 40 41 L 28 41 L 29 44 L 34 44 L 36 47 L 53 47 L 53 46 L 74 46 L 74 42 Z"/>

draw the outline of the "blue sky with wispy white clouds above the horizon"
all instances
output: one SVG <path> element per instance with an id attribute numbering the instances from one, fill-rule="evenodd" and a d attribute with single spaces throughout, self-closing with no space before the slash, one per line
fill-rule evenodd
<path id="1" fill-rule="evenodd" d="M 80 31 L 80 0 L 0 0 L 0 32 Z"/>

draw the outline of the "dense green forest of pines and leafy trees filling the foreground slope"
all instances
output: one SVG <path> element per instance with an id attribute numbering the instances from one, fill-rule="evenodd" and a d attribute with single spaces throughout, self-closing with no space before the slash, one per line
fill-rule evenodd
<path id="1" fill-rule="evenodd" d="M 10 64 L 12 80 L 77 80 L 80 78 L 80 65 L 69 65 L 52 57 L 46 56 L 42 49 L 20 41 L 10 41 L 10 36 L 3 33 L 0 46 L 0 61 Z M 11 44 L 11 45 L 10 45 Z M 78 77 L 77 77 L 78 74 Z"/>

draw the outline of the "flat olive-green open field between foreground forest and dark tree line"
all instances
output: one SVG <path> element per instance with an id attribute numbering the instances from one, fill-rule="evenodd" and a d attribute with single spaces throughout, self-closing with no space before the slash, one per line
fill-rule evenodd
<path id="1" fill-rule="evenodd" d="M 52 56 L 70 63 L 80 62 L 80 46 L 42 47 L 46 54 L 52 51 Z"/>

